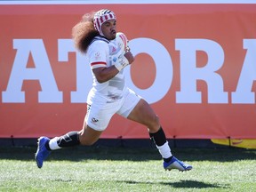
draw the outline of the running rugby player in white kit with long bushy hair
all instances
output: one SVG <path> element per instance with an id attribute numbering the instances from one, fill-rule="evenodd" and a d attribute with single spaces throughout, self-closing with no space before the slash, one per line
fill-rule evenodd
<path id="1" fill-rule="evenodd" d="M 68 132 L 50 140 L 38 139 L 36 164 L 43 166 L 52 150 L 77 145 L 90 146 L 99 140 L 114 114 L 145 125 L 149 137 L 164 159 L 164 169 L 189 171 L 192 166 L 172 156 L 159 117 L 148 102 L 128 88 L 123 70 L 134 60 L 124 33 L 116 32 L 116 14 L 103 9 L 85 14 L 72 30 L 78 51 L 89 58 L 92 89 L 87 97 L 87 113 L 81 131 Z"/>

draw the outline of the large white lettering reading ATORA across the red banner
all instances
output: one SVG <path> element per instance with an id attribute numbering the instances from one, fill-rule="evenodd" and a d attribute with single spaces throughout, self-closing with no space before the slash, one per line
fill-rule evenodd
<path id="1" fill-rule="evenodd" d="M 152 57 L 156 65 L 155 80 L 147 89 L 140 89 L 133 84 L 130 67 L 124 69 L 127 85 L 140 94 L 148 103 L 162 100 L 169 92 L 172 77 L 172 58 L 163 44 L 150 38 L 136 38 L 130 41 L 134 56 L 140 53 Z M 3 103 L 25 103 L 25 92 L 22 84 L 25 80 L 36 80 L 41 85 L 38 92 L 39 103 L 61 103 L 62 92 L 59 91 L 52 67 L 42 39 L 13 39 L 16 55 L 11 75 L 5 92 L 2 92 Z M 224 92 L 223 79 L 218 70 L 224 63 L 224 51 L 220 44 L 208 39 L 175 39 L 175 49 L 180 52 L 180 91 L 176 92 L 176 103 L 202 103 L 202 93 L 197 91 L 197 81 L 207 85 L 208 103 L 228 103 L 228 92 Z M 231 92 L 231 103 L 255 103 L 255 92 L 252 85 L 256 81 L 256 39 L 244 39 L 247 50 L 244 65 L 236 86 Z M 196 66 L 196 52 L 205 52 L 208 60 L 204 67 Z M 72 39 L 58 40 L 58 61 L 68 61 L 68 54 L 76 54 L 76 91 L 70 93 L 71 103 L 86 103 L 87 94 L 92 87 L 91 69 L 88 58 L 76 52 Z M 27 68 L 28 58 L 34 60 L 35 68 Z M 147 63 L 140 63 L 145 65 Z"/>

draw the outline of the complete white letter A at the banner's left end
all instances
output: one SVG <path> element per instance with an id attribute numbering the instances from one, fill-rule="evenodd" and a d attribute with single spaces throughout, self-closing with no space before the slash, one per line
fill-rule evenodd
<path id="1" fill-rule="evenodd" d="M 4 103 L 24 103 L 25 93 L 21 92 L 24 80 L 38 80 L 42 92 L 38 92 L 38 100 L 42 103 L 62 102 L 62 92 L 59 92 L 52 68 L 44 48 L 42 39 L 13 39 L 13 49 L 17 49 L 12 66 L 12 73 L 3 92 Z M 28 56 L 35 62 L 35 68 L 27 68 Z"/>

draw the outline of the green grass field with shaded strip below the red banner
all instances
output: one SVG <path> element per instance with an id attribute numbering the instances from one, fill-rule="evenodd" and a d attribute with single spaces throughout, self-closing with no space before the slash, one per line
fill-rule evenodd
<path id="1" fill-rule="evenodd" d="M 256 150 L 173 148 L 189 172 L 164 171 L 156 148 L 68 148 L 42 169 L 35 148 L 0 148 L 0 191 L 256 191 Z"/>

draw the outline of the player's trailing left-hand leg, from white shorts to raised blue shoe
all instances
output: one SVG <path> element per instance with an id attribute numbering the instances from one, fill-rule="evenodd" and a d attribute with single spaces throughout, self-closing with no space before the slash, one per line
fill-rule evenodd
<path id="1" fill-rule="evenodd" d="M 107 128 L 111 117 L 116 113 L 118 103 L 106 104 L 95 102 L 95 105 L 97 106 L 87 106 L 83 129 L 80 132 L 68 132 L 52 140 L 47 137 L 40 137 L 38 139 L 35 156 L 38 168 L 43 166 L 44 160 L 50 155 L 52 150 L 70 148 L 77 145 L 90 146 L 99 140 L 100 134 Z"/>

